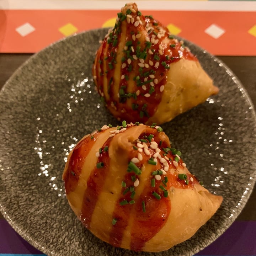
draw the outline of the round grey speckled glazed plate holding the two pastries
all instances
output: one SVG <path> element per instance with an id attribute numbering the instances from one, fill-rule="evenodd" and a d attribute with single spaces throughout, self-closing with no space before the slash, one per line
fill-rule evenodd
<path id="1" fill-rule="evenodd" d="M 134 255 L 97 239 L 75 217 L 62 172 L 69 151 L 103 124 L 118 124 L 94 90 L 91 68 L 106 29 L 64 39 L 30 58 L 0 93 L 0 209 L 10 225 L 47 255 Z M 162 125 L 188 169 L 224 201 L 189 240 L 160 253 L 190 256 L 221 235 L 255 183 L 256 121 L 247 93 L 219 59 L 185 41 L 220 89 Z M 136 254 L 137 255 L 137 254 Z"/>

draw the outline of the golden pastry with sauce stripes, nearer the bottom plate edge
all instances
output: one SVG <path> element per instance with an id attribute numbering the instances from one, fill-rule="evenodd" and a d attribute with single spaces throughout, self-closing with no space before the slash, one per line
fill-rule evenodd
<path id="1" fill-rule="evenodd" d="M 190 238 L 222 203 L 180 156 L 159 126 L 105 125 L 68 156 L 68 202 L 87 229 L 113 246 L 167 250 Z"/>

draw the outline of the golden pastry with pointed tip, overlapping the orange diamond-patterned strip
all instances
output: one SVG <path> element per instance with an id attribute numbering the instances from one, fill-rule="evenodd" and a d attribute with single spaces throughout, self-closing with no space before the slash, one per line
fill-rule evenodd
<path id="1" fill-rule="evenodd" d="M 198 59 L 135 3 L 117 14 L 96 53 L 93 76 L 118 120 L 158 124 L 218 93 Z"/>

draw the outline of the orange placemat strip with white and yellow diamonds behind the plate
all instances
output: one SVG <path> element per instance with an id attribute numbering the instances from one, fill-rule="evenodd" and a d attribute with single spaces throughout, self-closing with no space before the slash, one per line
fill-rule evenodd
<path id="1" fill-rule="evenodd" d="M 34 53 L 64 37 L 111 27 L 127 1 L 1 0 L 0 53 Z M 256 1 L 136 1 L 145 15 L 214 55 L 256 55 Z"/>

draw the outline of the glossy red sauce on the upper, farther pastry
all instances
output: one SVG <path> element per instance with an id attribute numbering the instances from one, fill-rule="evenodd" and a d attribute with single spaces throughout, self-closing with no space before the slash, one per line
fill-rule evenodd
<path id="1" fill-rule="evenodd" d="M 130 14 L 136 21 L 136 14 Z M 107 76 L 108 80 L 108 94 L 110 100 L 106 102 L 107 107 L 114 114 L 114 116 L 126 119 L 129 122 L 143 122 L 145 123 L 150 116 L 153 116 L 162 98 L 161 85 L 165 85 L 167 72 L 171 68 L 170 64 L 179 61 L 181 58 L 198 61 L 197 58 L 178 42 L 175 38 L 170 36 L 168 29 L 159 21 L 154 20 L 151 16 L 139 16 L 142 25 L 137 27 L 132 23 L 127 23 L 127 20 L 116 23 L 114 31 L 112 31 L 107 38 L 103 40 L 103 44 L 97 53 L 97 70 L 101 70 L 100 77 L 97 77 L 97 86 L 99 93 L 102 94 L 103 77 Z M 125 24 L 123 24 L 125 23 Z M 127 50 L 124 49 L 121 57 L 122 64 L 126 64 L 125 68 L 121 68 L 121 75 L 124 76 L 119 83 L 119 101 L 113 101 L 113 87 L 114 87 L 114 68 L 117 56 L 117 48 L 120 37 L 123 33 L 122 26 L 126 26 L 126 44 Z M 136 35 L 146 32 L 150 43 L 140 41 Z M 157 35 L 161 34 L 159 38 Z M 135 40 L 134 40 L 135 37 Z M 167 40 L 167 43 L 166 43 Z M 133 47 L 133 48 L 131 48 Z M 159 48 L 160 47 L 160 48 Z M 103 52 L 107 48 L 107 58 L 104 58 Z M 161 50 L 160 50 L 161 49 Z M 149 53 L 149 50 L 153 54 Z M 161 51 L 161 54 L 159 53 Z M 145 54 L 143 54 L 145 53 Z M 136 55 L 136 59 L 134 59 Z M 118 58 L 121 58 L 120 55 Z M 129 64 L 127 59 L 132 60 Z M 149 67 L 140 67 L 139 59 L 143 59 L 144 63 Z M 107 69 L 103 69 L 103 63 L 106 62 Z M 150 62 L 153 65 L 150 65 Z M 158 63 L 158 64 L 157 64 Z M 133 77 L 130 76 L 131 71 Z M 150 75 L 154 75 L 151 78 Z M 147 79 L 145 81 L 144 79 Z M 155 78 L 158 80 L 155 82 Z M 134 86 L 131 91 L 127 90 L 127 81 L 133 80 Z M 153 82 L 154 86 L 151 86 Z M 146 90 L 142 86 L 146 87 Z M 116 86 L 116 85 L 115 85 Z M 139 95 L 136 94 L 137 91 Z M 150 94 L 150 97 L 144 95 Z M 127 104 L 127 98 L 131 99 L 131 103 Z"/>

